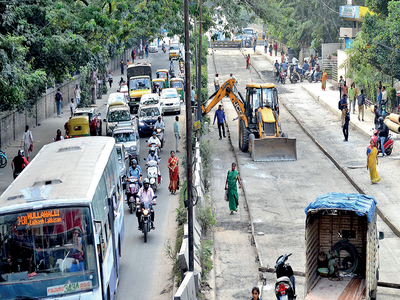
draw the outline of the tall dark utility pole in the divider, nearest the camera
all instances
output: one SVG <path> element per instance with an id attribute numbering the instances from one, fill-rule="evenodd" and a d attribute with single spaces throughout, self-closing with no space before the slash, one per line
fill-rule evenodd
<path id="1" fill-rule="evenodd" d="M 189 271 L 194 271 L 193 249 L 193 199 L 192 199 L 192 105 L 190 101 L 190 53 L 189 53 L 189 0 L 185 0 L 185 85 L 186 85 L 186 179 L 189 240 Z"/>

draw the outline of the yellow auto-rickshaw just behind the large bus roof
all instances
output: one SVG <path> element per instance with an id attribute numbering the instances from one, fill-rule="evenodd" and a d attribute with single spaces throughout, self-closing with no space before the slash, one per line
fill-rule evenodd
<path id="1" fill-rule="evenodd" d="M 102 134 L 101 114 L 94 108 L 82 107 L 75 110 L 75 114 L 64 125 L 67 137 L 81 137 Z"/>

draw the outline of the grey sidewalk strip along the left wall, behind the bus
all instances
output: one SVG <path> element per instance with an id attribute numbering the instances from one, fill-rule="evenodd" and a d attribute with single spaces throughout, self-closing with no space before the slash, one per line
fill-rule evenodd
<path id="1" fill-rule="evenodd" d="M 118 81 L 121 77 L 121 70 L 117 68 L 114 70 L 114 83 L 112 88 L 107 82 L 108 92 L 106 95 L 102 96 L 102 99 L 96 98 L 96 104 L 92 105 L 92 107 L 96 108 L 97 111 L 100 111 L 105 106 L 105 102 L 108 99 L 108 96 L 111 93 L 117 92 L 118 89 Z M 75 100 L 75 99 L 74 99 Z M 33 151 L 30 153 L 29 159 L 35 157 L 35 155 L 40 151 L 40 149 L 48 144 L 53 142 L 53 138 L 56 136 L 57 129 L 61 129 L 61 132 L 64 134 L 64 124 L 68 121 L 69 117 L 71 116 L 70 112 L 70 99 L 64 99 L 64 108 L 61 109 L 61 118 L 57 117 L 57 114 L 54 114 L 52 117 L 44 120 L 43 122 L 39 123 L 39 126 L 29 128 L 32 131 L 33 136 Z M 76 103 L 75 103 L 76 104 Z M 102 119 L 105 116 L 101 116 Z M 105 126 L 105 124 L 103 124 Z M 103 128 L 103 135 L 105 134 L 105 129 Z M 11 145 L 7 146 L 6 148 L 2 149 L 6 152 L 8 163 L 7 166 L 3 169 L 0 169 L 0 195 L 6 190 L 6 188 L 13 182 L 13 174 L 11 168 L 11 162 L 13 158 L 18 154 L 18 150 L 21 146 L 21 137 L 16 137 L 15 141 L 11 143 Z"/>

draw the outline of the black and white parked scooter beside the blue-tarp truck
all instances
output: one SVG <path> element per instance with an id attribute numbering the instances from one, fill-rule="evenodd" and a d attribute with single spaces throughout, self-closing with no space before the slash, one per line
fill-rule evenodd
<path id="1" fill-rule="evenodd" d="M 286 263 L 290 255 L 292 255 L 292 253 L 289 255 L 281 255 L 276 260 L 274 270 L 274 273 L 276 273 L 275 296 L 278 300 L 296 299 L 293 269 Z"/>

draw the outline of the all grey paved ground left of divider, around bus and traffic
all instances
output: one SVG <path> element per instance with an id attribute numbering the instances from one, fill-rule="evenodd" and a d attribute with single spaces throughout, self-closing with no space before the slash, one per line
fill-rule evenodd
<path id="1" fill-rule="evenodd" d="M 153 78 L 157 69 L 167 69 L 169 67 L 168 52 L 164 54 L 161 49 L 159 53 L 150 53 L 148 59 L 152 62 Z M 175 62 L 175 70 L 178 70 L 178 64 Z M 115 93 L 117 82 L 121 77 L 120 71 L 114 72 L 114 84 L 109 89 L 108 94 Z M 124 78 L 126 77 L 123 76 Z M 107 95 L 97 100 L 94 106 L 101 113 L 102 119 L 106 116 L 105 103 Z M 63 129 L 64 123 L 68 120 L 68 107 L 63 109 L 62 118 L 49 118 L 42 124 L 32 129 L 34 136 L 34 151 L 31 153 L 31 159 L 45 144 L 52 142 L 57 128 Z M 181 129 L 184 130 L 185 109 L 182 105 Z M 165 146 L 161 151 L 161 176 L 162 183 L 156 191 L 157 206 L 155 207 L 155 227 L 148 236 L 148 242 L 145 244 L 143 234 L 137 229 L 136 215 L 129 213 L 128 206 L 125 206 L 125 240 L 122 247 L 121 258 L 121 276 L 119 287 L 116 294 L 119 299 L 170 299 L 172 290 L 172 261 L 166 258 L 166 245 L 171 239 L 171 245 L 174 245 L 176 236 L 175 226 L 175 208 L 178 206 L 178 194 L 171 195 L 168 191 L 168 172 L 167 161 L 170 156 L 170 150 L 175 150 L 175 137 L 173 135 L 173 122 L 175 115 L 164 116 L 166 126 Z M 106 132 L 103 124 L 103 134 Z M 146 137 L 140 139 L 142 161 L 139 162 L 142 167 L 143 175 L 146 177 L 147 170 L 144 166 L 143 158 L 147 157 L 148 149 L 146 147 Z M 17 139 L 12 145 L 4 149 L 9 156 L 9 164 L 6 168 L 0 169 L 0 194 L 12 182 L 11 160 L 17 154 L 20 141 Z M 15 153 L 15 154 L 14 154 Z M 179 157 L 179 156 L 178 156 Z M 172 246 L 174 247 L 174 246 Z M 163 292 L 163 293 L 162 293 Z M 162 293 L 162 295 L 161 295 Z"/>

